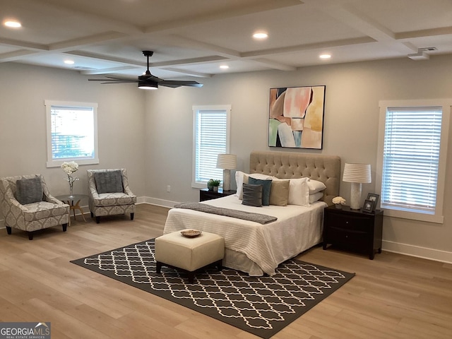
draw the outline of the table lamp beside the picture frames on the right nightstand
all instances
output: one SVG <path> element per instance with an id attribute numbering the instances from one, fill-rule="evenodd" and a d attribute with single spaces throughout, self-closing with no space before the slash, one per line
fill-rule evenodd
<path id="1" fill-rule="evenodd" d="M 352 183 L 350 208 L 359 210 L 361 207 L 361 184 L 372 182 L 369 164 L 345 164 L 343 182 Z"/>

